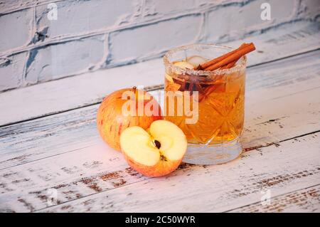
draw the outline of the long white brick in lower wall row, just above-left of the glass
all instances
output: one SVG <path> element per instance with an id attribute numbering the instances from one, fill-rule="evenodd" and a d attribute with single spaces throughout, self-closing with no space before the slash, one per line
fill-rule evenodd
<path id="1" fill-rule="evenodd" d="M 197 41 L 201 31 L 201 15 L 151 23 L 111 34 L 111 64 L 143 60 L 169 48 Z"/>

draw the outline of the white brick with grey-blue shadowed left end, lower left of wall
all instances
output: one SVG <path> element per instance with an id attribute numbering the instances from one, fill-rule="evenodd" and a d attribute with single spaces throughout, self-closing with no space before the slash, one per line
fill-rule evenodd
<path id="1" fill-rule="evenodd" d="M 26 83 L 63 78 L 89 70 L 103 61 L 103 36 L 58 43 L 31 51 L 26 72 Z"/>

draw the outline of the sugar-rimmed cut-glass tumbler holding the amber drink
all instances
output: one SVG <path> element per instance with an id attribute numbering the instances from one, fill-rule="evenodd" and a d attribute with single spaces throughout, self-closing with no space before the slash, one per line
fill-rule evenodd
<path id="1" fill-rule="evenodd" d="M 193 69 L 229 51 L 233 48 L 192 44 L 164 56 L 164 118 L 186 134 L 183 162 L 221 164 L 242 152 L 246 57 L 229 69 Z"/>

